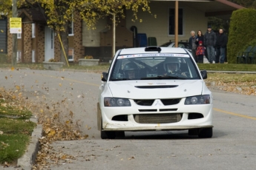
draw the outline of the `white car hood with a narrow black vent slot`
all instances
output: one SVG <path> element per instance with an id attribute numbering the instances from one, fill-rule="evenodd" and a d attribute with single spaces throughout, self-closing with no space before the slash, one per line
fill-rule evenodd
<path id="1" fill-rule="evenodd" d="M 109 81 L 108 88 L 114 98 L 154 99 L 185 98 L 201 95 L 202 80 L 145 80 L 145 81 Z"/>

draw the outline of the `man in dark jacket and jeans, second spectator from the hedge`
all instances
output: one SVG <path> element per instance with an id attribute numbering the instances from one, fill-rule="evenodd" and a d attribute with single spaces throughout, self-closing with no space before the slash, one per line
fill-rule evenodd
<path id="1" fill-rule="evenodd" d="M 211 26 L 209 25 L 207 28 L 207 32 L 204 35 L 204 45 L 207 50 L 208 60 L 210 63 L 215 63 L 215 50 L 214 46 L 216 44 L 216 34 L 211 30 Z"/>

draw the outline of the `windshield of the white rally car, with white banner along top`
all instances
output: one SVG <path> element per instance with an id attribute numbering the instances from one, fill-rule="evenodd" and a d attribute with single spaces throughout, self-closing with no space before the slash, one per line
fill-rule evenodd
<path id="1" fill-rule="evenodd" d="M 110 81 L 200 79 L 191 58 L 174 54 L 122 55 L 116 59 Z M 179 56 L 179 54 L 176 54 Z M 142 57 L 140 57 L 142 56 Z"/>

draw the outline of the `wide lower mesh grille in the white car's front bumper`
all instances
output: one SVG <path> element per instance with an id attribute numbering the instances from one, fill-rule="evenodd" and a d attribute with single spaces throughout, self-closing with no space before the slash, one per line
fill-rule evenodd
<path id="1" fill-rule="evenodd" d="M 176 123 L 179 122 L 183 114 L 145 114 L 134 115 L 134 120 L 137 123 Z"/>

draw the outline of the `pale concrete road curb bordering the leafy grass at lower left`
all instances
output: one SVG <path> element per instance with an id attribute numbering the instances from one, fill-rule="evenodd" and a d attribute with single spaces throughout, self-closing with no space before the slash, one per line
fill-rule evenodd
<path id="1" fill-rule="evenodd" d="M 38 123 L 36 117 L 30 118 L 30 121 Z M 36 128 L 33 130 L 30 144 L 27 146 L 27 150 L 24 155 L 18 159 L 17 166 L 21 167 L 24 170 L 31 170 L 33 164 L 36 161 L 36 154 L 39 151 L 39 138 L 42 137 L 42 125 L 37 124 Z"/>

